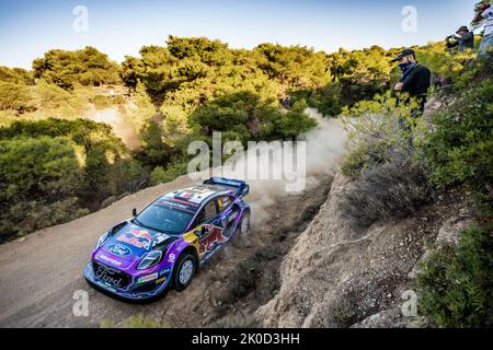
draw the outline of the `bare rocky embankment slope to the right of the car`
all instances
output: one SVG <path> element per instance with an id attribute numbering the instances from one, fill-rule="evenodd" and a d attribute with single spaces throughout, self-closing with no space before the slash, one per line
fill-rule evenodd
<path id="1" fill-rule="evenodd" d="M 457 240 L 471 221 L 465 198 L 448 192 L 415 215 L 354 229 L 340 202 L 355 182 L 336 175 L 328 200 L 284 258 L 280 290 L 255 314 L 265 327 L 422 327 L 403 317 L 425 243 Z M 405 294 L 404 294 L 405 296 Z"/>

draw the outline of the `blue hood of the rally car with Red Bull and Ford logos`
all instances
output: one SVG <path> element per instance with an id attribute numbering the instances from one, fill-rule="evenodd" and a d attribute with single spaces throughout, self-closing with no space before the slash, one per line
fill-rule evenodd
<path id="1" fill-rule="evenodd" d="M 156 245 L 174 241 L 172 238 L 175 237 L 127 222 L 104 243 L 101 250 L 119 259 L 135 260 L 140 259 Z"/>

